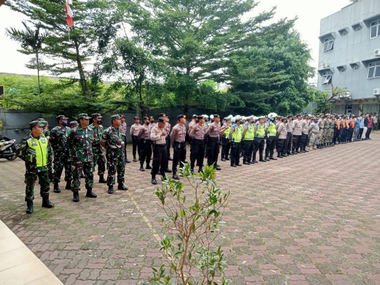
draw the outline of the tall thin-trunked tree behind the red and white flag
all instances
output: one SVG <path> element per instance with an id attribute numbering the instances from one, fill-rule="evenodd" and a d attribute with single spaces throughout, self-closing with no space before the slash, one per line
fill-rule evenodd
<path id="1" fill-rule="evenodd" d="M 88 74 L 85 63 L 95 55 L 99 45 L 99 33 L 112 34 L 112 19 L 108 12 L 112 8 L 111 1 L 107 0 L 73 0 L 74 26 L 69 29 L 64 14 L 64 1 L 56 0 L 8 0 L 5 3 L 12 10 L 21 12 L 30 18 L 30 21 L 45 31 L 49 31 L 44 41 L 41 53 L 46 55 L 50 62 L 46 69 L 54 75 L 79 74 L 82 95 L 94 95 L 88 86 Z M 108 23 L 102 29 L 99 22 Z M 102 40 L 107 37 L 102 37 Z M 74 80 L 77 81 L 77 80 Z"/>

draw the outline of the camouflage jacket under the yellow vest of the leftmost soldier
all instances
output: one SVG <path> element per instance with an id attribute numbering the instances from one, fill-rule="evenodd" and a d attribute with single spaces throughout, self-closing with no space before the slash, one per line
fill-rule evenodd
<path id="1" fill-rule="evenodd" d="M 47 166 L 37 167 L 37 156 L 34 149 L 29 148 L 28 140 L 32 140 L 34 137 L 32 134 L 27 135 L 21 140 L 17 147 L 18 157 L 25 161 L 25 168 L 27 173 L 37 173 L 41 171 L 47 171 Z M 37 139 L 37 138 L 36 138 Z M 44 135 L 41 135 L 39 140 L 47 140 Z M 48 149 L 47 149 L 48 152 Z M 47 157 L 47 154 L 46 154 Z"/>

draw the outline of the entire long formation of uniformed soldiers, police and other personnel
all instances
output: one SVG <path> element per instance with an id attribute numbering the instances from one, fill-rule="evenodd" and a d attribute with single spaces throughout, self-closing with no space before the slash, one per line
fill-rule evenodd
<path id="1" fill-rule="evenodd" d="M 90 118 L 93 123 L 90 125 Z M 25 183 L 27 213 L 33 213 L 34 186 L 37 178 L 41 187 L 42 206 L 54 207 L 49 200 L 49 185 L 59 193 L 59 182 L 65 170 L 65 189 L 72 190 L 73 201 L 79 202 L 81 178 L 85 179 L 86 196 L 96 198 L 93 192 L 94 171 L 97 165 L 99 183 L 106 183 L 108 193 L 114 193 L 117 174 L 118 190 L 128 190 L 124 185 L 127 125 L 124 115 L 112 115 L 111 126 L 104 130 L 102 116 L 79 114 L 78 121 L 70 122 L 64 115 L 56 117 L 57 126 L 48 130 L 47 121 L 38 119 L 29 123 L 30 133 L 20 142 L 18 156 L 25 161 Z M 232 167 L 250 165 L 284 158 L 289 155 L 322 149 L 335 144 L 360 140 L 360 118 L 354 115 L 320 114 L 319 116 L 296 115 L 281 117 L 270 113 L 262 117 L 241 117 L 232 115 L 223 118 L 218 114 L 210 116 L 193 115 L 187 125 L 186 115 L 177 116 L 172 128 L 169 117 L 159 114 L 154 117 L 134 117 L 130 128 L 133 142 L 133 161 L 140 161 L 140 171 L 150 169 L 151 183 L 157 184 L 156 176 L 172 173 L 172 179 L 179 180 L 178 167 L 186 160 L 187 137 L 190 141 L 190 169 L 202 171 L 204 158 L 207 165 L 221 170 L 218 164 L 220 145 L 221 161 L 230 160 Z M 363 133 L 363 130 L 361 130 Z M 221 143 L 222 142 L 222 143 Z M 173 158 L 170 157 L 173 148 Z M 308 148 L 307 148 L 308 147 Z M 277 149 L 277 158 L 274 150 Z M 256 160 L 257 151 L 259 158 Z M 172 169 L 168 161 L 172 160 Z M 152 165 L 150 162 L 152 161 Z M 145 168 L 144 168 L 145 163 Z M 52 167 L 53 166 L 53 167 Z M 107 179 L 104 179 L 107 166 Z"/>

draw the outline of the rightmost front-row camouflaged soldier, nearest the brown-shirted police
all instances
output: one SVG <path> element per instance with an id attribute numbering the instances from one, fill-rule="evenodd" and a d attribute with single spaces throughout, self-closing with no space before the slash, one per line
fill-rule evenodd
<path id="1" fill-rule="evenodd" d="M 108 193 L 113 194 L 113 185 L 115 184 L 115 175 L 117 172 L 118 190 L 128 190 L 124 186 L 125 157 L 124 157 L 124 138 L 121 126 L 120 115 L 111 116 L 112 126 L 105 129 L 100 140 L 100 144 L 106 149 L 107 157 L 107 185 Z"/>

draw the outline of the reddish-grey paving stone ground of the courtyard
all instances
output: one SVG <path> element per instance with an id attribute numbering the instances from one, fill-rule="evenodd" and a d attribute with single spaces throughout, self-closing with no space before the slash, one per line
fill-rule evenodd
<path id="1" fill-rule="evenodd" d="M 220 162 L 231 197 L 217 243 L 234 285 L 380 285 L 380 133 L 372 138 L 239 168 Z M 162 263 L 153 235 L 162 212 L 138 169 L 126 166 L 128 191 L 95 183 L 98 197 L 82 190 L 79 203 L 51 191 L 54 209 L 37 194 L 27 215 L 23 161 L 0 160 L 0 219 L 65 285 L 137 284 Z"/>

